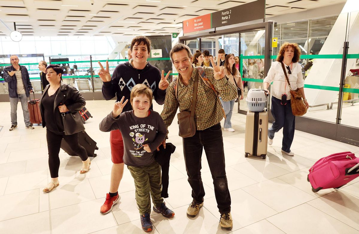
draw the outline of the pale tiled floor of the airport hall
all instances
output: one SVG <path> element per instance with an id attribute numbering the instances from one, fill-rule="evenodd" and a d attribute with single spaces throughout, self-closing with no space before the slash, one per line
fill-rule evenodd
<path id="1" fill-rule="evenodd" d="M 109 189 L 111 154 L 109 134 L 98 129 L 112 109 L 113 101 L 87 101 L 94 116 L 85 124 L 96 140 L 98 156 L 92 158 L 88 173 L 80 175 L 81 160 L 60 151 L 60 186 L 45 194 L 50 181 L 45 130 L 41 126 L 24 129 L 18 108 L 19 128 L 9 132 L 10 104 L 0 102 L 0 233 L 85 234 L 144 233 L 136 208 L 134 183 L 129 171 L 120 184 L 120 202 L 112 212 L 99 212 Z M 162 106 L 155 104 L 160 112 Z M 328 154 L 359 147 L 335 142 L 304 132 L 295 132 L 294 157 L 281 154 L 281 132 L 268 147 L 266 160 L 244 158 L 245 116 L 232 116 L 236 132 L 223 131 L 226 171 L 232 197 L 233 229 L 236 234 L 359 233 L 359 179 L 339 190 L 311 191 L 308 168 Z M 151 213 L 151 233 L 230 233 L 220 229 L 220 214 L 206 158 L 202 158 L 202 178 L 206 191 L 199 216 L 188 218 L 191 202 L 182 139 L 177 120 L 169 128 L 169 140 L 177 146 L 170 166 L 169 197 L 166 204 L 176 215 L 166 219 Z"/>

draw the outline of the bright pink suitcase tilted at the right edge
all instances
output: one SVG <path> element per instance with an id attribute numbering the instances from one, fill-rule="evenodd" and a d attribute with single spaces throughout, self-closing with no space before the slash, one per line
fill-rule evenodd
<path id="1" fill-rule="evenodd" d="M 307 177 L 312 191 L 340 188 L 359 176 L 359 158 L 349 151 L 331 154 L 319 159 L 309 169 Z"/>

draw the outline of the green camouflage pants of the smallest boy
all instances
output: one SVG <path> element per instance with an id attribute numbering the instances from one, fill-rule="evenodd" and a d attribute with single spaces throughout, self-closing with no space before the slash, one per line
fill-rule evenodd
<path id="1" fill-rule="evenodd" d="M 163 203 L 163 198 L 161 197 L 161 166 L 159 166 L 157 162 L 153 162 L 148 166 L 127 166 L 127 168 L 135 181 L 135 196 L 140 215 L 144 215 L 145 213 L 150 214 L 150 194 L 155 206 L 158 207 Z"/>

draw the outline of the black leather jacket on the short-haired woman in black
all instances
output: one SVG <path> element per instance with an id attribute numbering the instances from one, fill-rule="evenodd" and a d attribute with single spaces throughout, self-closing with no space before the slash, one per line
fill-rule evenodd
<path id="1" fill-rule="evenodd" d="M 47 85 L 44 89 L 44 92 L 42 96 L 47 95 L 47 90 L 50 87 L 50 85 Z M 71 113 L 76 113 L 77 111 L 80 111 L 86 104 L 86 101 L 84 97 L 80 94 L 80 92 L 73 86 L 67 85 L 61 81 L 59 92 L 57 92 L 55 101 L 53 103 L 53 113 L 55 115 L 55 111 L 59 111 L 57 108 L 60 104 L 65 104 L 67 109 Z M 42 100 L 42 98 L 41 98 Z M 41 105 L 41 100 L 39 103 L 40 106 L 40 113 L 42 118 L 42 127 L 44 128 L 46 126 L 46 122 L 44 119 L 44 107 Z M 59 131 L 60 132 L 60 131 Z"/>

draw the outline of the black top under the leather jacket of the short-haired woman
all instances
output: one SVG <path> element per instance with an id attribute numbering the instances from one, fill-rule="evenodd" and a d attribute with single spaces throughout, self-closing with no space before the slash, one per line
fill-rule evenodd
<path id="1" fill-rule="evenodd" d="M 64 132 L 64 125 L 62 124 L 62 117 L 59 109 L 55 109 L 55 113 L 53 111 L 53 103 L 55 102 L 55 97 L 57 93 L 59 92 L 59 89 L 56 90 L 56 92 L 48 96 L 48 93 L 43 95 L 41 104 L 44 108 L 44 119 L 46 123 L 46 128 L 50 130 L 53 133 L 63 133 Z"/>

